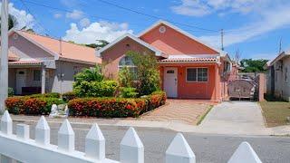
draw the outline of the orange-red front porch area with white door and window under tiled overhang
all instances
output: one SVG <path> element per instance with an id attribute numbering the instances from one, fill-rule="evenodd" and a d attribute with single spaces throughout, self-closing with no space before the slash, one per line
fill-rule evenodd
<path id="1" fill-rule="evenodd" d="M 169 98 L 220 101 L 217 62 L 161 63 L 162 88 Z"/>

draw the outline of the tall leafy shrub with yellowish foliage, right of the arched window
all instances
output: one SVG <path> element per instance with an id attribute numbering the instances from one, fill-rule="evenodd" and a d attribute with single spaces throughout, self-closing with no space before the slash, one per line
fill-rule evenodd
<path id="1" fill-rule="evenodd" d="M 153 53 L 138 53 L 130 51 L 126 53 L 137 66 L 137 85 L 139 95 L 149 95 L 154 91 L 160 91 L 160 70 L 157 59 Z"/>

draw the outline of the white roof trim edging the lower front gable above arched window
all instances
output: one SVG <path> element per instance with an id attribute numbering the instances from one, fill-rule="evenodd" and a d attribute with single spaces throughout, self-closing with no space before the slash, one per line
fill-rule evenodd
<path id="1" fill-rule="evenodd" d="M 162 56 L 162 54 L 165 54 L 165 53 L 161 52 L 160 50 L 152 47 L 149 43 L 145 43 L 144 41 L 140 40 L 140 38 L 136 37 L 133 34 L 123 34 L 123 35 L 121 35 L 119 38 L 117 38 L 113 42 L 107 44 L 102 49 L 100 49 L 99 51 L 97 51 L 96 54 L 99 55 L 99 56 L 101 56 L 101 53 L 103 53 L 104 51 L 110 49 L 114 44 L 121 42 L 126 37 L 131 38 L 132 40 L 136 41 L 137 43 L 140 43 L 141 45 L 143 45 L 143 46 L 147 47 L 148 49 L 150 49 L 151 51 L 155 52 L 156 53 L 156 56 Z"/>

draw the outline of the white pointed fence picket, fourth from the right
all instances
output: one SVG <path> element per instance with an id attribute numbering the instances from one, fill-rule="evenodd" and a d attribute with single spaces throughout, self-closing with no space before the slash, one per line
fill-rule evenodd
<path id="1" fill-rule="evenodd" d="M 105 158 L 105 138 L 98 124 L 93 124 L 85 138 L 85 155 L 102 160 Z"/>

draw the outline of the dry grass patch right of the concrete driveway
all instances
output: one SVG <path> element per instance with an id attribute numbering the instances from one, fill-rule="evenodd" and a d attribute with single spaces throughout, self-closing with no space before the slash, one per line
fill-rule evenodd
<path id="1" fill-rule="evenodd" d="M 275 127 L 290 124 L 290 102 L 263 101 L 260 102 L 267 127 Z"/>

